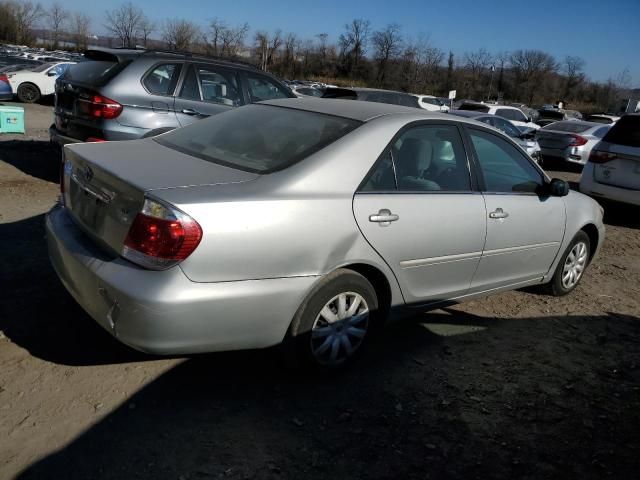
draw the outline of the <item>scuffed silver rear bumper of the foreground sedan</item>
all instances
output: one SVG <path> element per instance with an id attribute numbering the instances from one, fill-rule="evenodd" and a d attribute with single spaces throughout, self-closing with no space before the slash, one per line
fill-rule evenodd
<path id="1" fill-rule="evenodd" d="M 51 263 L 69 293 L 118 340 L 149 353 L 276 345 L 317 280 L 196 283 L 179 267 L 144 270 L 96 251 L 61 206 L 47 214 L 46 231 Z"/>

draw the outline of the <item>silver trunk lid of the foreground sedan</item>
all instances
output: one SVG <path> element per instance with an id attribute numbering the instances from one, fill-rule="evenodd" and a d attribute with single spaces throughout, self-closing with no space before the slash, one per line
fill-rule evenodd
<path id="1" fill-rule="evenodd" d="M 152 139 L 66 146 L 63 172 L 67 211 L 97 244 L 116 255 L 122 254 L 146 193 L 242 183 L 259 176 L 182 154 Z"/>

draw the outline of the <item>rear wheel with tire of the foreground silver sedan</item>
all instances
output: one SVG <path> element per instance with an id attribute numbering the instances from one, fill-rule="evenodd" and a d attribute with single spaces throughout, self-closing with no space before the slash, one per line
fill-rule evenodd
<path id="1" fill-rule="evenodd" d="M 325 372 L 346 366 L 366 344 L 377 309 L 376 292 L 365 277 L 347 269 L 330 273 L 291 322 L 283 345 L 287 363 Z"/>

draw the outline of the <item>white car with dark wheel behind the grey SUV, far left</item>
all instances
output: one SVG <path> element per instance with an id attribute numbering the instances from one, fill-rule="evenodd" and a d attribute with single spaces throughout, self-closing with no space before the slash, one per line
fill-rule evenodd
<path id="1" fill-rule="evenodd" d="M 40 97 L 52 95 L 55 91 L 56 78 L 74 63 L 44 63 L 33 70 L 10 73 L 7 75 L 9 84 L 21 102 L 34 103 L 40 100 Z"/>

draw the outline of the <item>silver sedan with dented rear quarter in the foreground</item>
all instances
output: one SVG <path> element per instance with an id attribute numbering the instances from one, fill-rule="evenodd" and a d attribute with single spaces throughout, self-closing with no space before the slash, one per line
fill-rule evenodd
<path id="1" fill-rule="evenodd" d="M 373 102 L 274 100 L 69 145 L 62 172 L 55 270 L 116 338 L 160 354 L 284 343 L 334 368 L 391 309 L 566 294 L 604 238 L 598 204 L 495 129 Z"/>

